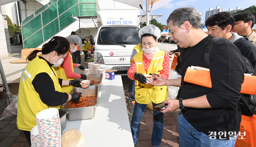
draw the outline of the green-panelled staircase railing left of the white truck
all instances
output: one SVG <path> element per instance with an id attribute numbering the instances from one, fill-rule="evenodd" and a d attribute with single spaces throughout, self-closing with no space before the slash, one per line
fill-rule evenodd
<path id="1" fill-rule="evenodd" d="M 96 16 L 98 0 L 52 0 L 21 23 L 24 48 L 37 48 L 71 25 L 70 16 Z"/>

